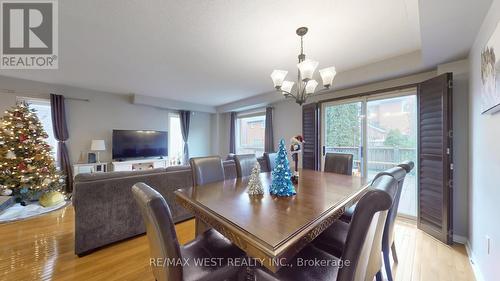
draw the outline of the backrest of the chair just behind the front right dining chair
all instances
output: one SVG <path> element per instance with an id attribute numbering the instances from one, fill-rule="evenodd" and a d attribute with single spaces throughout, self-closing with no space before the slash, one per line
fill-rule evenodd
<path id="1" fill-rule="evenodd" d="M 385 222 L 384 236 L 382 239 L 382 245 L 387 248 L 390 247 L 392 245 L 392 242 L 394 241 L 394 223 L 398 215 L 399 199 L 401 198 L 401 193 L 403 192 L 403 184 L 405 181 L 406 171 L 400 166 L 396 166 L 394 168 L 390 168 L 386 171 L 378 173 L 373 181 L 378 181 L 378 178 L 383 175 L 391 176 L 397 182 L 396 194 L 394 195 L 392 206 L 387 212 L 387 220 Z"/>

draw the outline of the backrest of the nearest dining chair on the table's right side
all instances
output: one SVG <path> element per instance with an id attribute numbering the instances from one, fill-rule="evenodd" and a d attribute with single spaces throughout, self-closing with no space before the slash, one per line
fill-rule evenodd
<path id="1" fill-rule="evenodd" d="M 338 281 L 371 281 L 382 267 L 382 232 L 396 182 L 382 176 L 375 184 L 377 188 L 370 188 L 356 205 L 342 252 L 342 260 L 350 265 L 340 268 Z"/>

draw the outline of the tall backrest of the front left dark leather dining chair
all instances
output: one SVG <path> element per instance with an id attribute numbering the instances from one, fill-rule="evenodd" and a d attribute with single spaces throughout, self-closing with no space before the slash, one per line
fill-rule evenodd
<path id="1" fill-rule="evenodd" d="M 152 259 L 162 263 L 166 258 L 181 260 L 181 250 L 175 233 L 174 221 L 167 202 L 153 188 L 144 183 L 132 186 L 132 194 L 146 224 L 149 252 Z M 157 281 L 182 280 L 181 266 L 152 266 Z"/>

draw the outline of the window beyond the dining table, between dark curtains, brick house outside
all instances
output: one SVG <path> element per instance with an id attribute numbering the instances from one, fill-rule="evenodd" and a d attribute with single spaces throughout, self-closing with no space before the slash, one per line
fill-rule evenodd
<path id="1" fill-rule="evenodd" d="M 266 115 L 241 116 L 236 120 L 236 153 L 264 153 L 264 138 L 266 130 Z"/>

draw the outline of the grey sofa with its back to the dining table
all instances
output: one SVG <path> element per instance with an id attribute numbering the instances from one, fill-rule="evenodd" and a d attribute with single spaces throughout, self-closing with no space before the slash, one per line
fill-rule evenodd
<path id="1" fill-rule="evenodd" d="M 226 179 L 236 178 L 234 161 L 224 161 Z M 83 256 L 111 243 L 146 232 L 132 197 L 132 185 L 144 182 L 167 200 L 174 222 L 192 218 L 177 204 L 174 191 L 193 184 L 189 166 L 134 172 L 78 174 L 74 180 L 75 254 Z"/>

